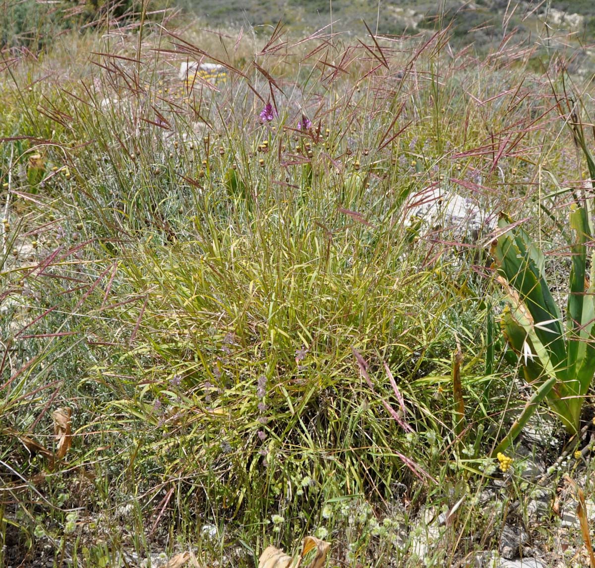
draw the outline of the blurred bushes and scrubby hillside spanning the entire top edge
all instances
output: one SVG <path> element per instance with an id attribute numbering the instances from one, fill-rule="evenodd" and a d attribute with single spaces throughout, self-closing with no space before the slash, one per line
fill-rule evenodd
<path id="1" fill-rule="evenodd" d="M 43 3 L 35 0 L 2 0 L 0 4 L 1 45 L 26 45 L 42 49 L 57 30 L 88 29 L 110 20 L 131 21 L 140 17 L 142 4 L 135 0 L 79 0 Z M 558 21 L 552 37 L 562 30 L 571 32 L 577 44 L 595 38 L 595 4 L 588 0 L 519 2 L 516 8 L 505 0 L 478 2 L 374 2 L 372 0 L 328 2 L 326 0 L 152 0 L 145 3 L 149 17 L 161 18 L 162 10 L 176 14 L 176 22 L 203 21 L 210 29 L 253 27 L 268 35 L 270 26 L 282 21 L 296 35 L 312 32 L 333 22 L 333 31 L 355 35 L 370 29 L 382 35 L 415 35 L 419 29 L 452 26 L 455 46 L 473 44 L 480 54 L 497 46 L 506 32 L 517 30 L 529 39 L 536 26 L 548 17 Z M 151 14 L 152 13 L 152 14 Z M 557 13 L 555 17 L 550 14 Z M 565 18 L 565 14 L 571 15 Z M 575 14 L 578 14 L 576 17 Z"/>

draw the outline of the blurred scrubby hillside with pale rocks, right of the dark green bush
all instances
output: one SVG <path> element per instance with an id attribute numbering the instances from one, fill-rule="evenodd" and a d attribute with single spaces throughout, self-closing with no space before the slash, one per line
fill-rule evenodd
<path id="1" fill-rule="evenodd" d="M 571 45 L 590 45 L 595 38 L 595 3 L 589 0 L 560 2 L 373 2 L 326 0 L 179 0 L 184 13 L 196 15 L 211 27 L 255 26 L 257 33 L 282 21 L 297 34 L 312 32 L 333 21 L 333 31 L 346 35 L 364 33 L 362 20 L 381 35 L 415 35 L 424 29 L 452 26 L 456 47 L 473 45 L 478 53 L 497 48 L 505 36 L 516 30 L 516 42 L 543 35 L 547 20 L 553 45 L 556 38 L 571 33 Z M 331 17 L 332 10 L 332 17 Z M 261 29 L 260 26 L 264 26 Z M 565 38 L 568 41 L 568 38 Z M 548 45 L 544 45 L 545 53 Z M 549 45 L 551 48 L 552 45 Z M 543 55 L 543 54 L 542 54 Z M 591 55 L 592 58 L 592 55 Z"/>

